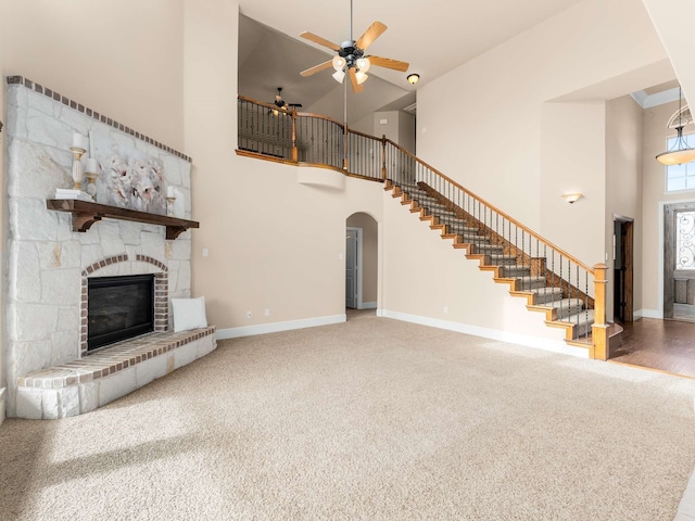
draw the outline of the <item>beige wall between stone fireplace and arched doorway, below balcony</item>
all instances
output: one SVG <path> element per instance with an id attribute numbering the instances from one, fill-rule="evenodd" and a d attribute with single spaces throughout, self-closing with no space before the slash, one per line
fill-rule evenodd
<path id="1" fill-rule="evenodd" d="M 294 166 L 236 155 L 237 16 L 224 0 L 186 1 L 186 144 L 201 221 L 193 294 L 205 295 L 218 330 L 342 316 L 345 219 L 364 211 L 379 220 L 382 187 L 302 185 Z"/>

